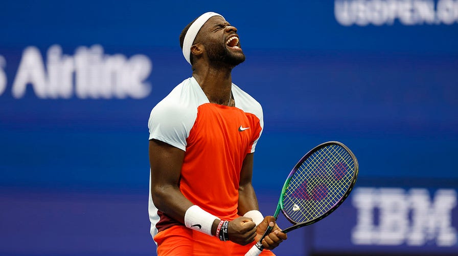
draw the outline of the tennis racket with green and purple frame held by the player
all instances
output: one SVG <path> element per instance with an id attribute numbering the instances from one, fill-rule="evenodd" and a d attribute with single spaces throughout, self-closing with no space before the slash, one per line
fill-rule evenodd
<path id="1" fill-rule="evenodd" d="M 273 217 L 277 219 L 281 210 L 293 224 L 284 233 L 322 220 L 348 197 L 357 176 L 358 160 L 346 145 L 337 141 L 317 145 L 291 170 Z M 245 256 L 259 255 L 271 230 L 269 226 Z"/>

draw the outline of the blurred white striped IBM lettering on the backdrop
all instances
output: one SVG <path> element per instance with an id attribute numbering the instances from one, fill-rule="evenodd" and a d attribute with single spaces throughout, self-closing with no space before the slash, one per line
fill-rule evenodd
<path id="1" fill-rule="evenodd" d="M 352 230 L 355 245 L 455 246 L 457 231 L 452 210 L 454 189 L 358 188 L 352 204 L 357 209 Z"/>

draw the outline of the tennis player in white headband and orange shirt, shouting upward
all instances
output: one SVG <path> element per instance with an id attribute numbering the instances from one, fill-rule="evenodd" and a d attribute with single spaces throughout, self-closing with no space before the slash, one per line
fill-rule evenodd
<path id="1" fill-rule="evenodd" d="M 273 249 L 287 237 L 272 216 L 263 217 L 251 185 L 263 114 L 232 83 L 232 69 L 245 60 L 237 29 L 220 14 L 204 13 L 181 32 L 180 45 L 192 77 L 148 121 L 157 254 L 244 255 L 268 225 L 262 244 Z"/>

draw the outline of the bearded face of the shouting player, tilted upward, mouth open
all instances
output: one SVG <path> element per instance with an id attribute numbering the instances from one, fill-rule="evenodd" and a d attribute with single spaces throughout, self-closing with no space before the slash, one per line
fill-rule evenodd
<path id="1" fill-rule="evenodd" d="M 221 16 L 211 17 L 200 29 L 200 43 L 214 64 L 225 63 L 233 67 L 245 60 L 240 48 L 237 29 L 226 22 Z"/>

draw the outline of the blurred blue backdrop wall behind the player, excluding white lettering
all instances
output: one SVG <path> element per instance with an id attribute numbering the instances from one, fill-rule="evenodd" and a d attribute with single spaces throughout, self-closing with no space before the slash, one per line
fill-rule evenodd
<path id="1" fill-rule="evenodd" d="M 397 3 L 393 22 L 361 26 L 364 13 L 379 13 L 365 7 L 388 2 Z M 425 3 L 433 5 L 432 22 L 418 14 Z M 356 13 L 359 25 L 345 26 L 336 18 L 344 5 L 359 8 L 346 12 Z M 295 162 L 328 140 L 344 142 L 357 156 L 358 186 L 458 188 L 458 1 L 4 1 L 0 254 L 155 253 L 147 215 L 147 120 L 152 107 L 190 76 L 178 36 L 206 11 L 221 13 L 237 27 L 247 59 L 233 79 L 263 105 L 254 185 L 265 215 Z M 100 46 L 104 59 L 141 55 L 151 63 L 140 80 L 150 91 L 140 98 L 82 98 L 74 72 L 70 95 L 40 97 L 30 70 L 42 65 L 49 86 L 52 46 L 61 48 L 60 60 L 62 54 L 75 57 L 81 47 Z M 29 73 L 24 68 L 31 80 L 17 96 L 14 83 L 27 49 L 38 50 L 39 58 Z M 456 208 L 451 214 L 457 229 Z M 341 252 L 458 251 L 456 243 L 439 248 L 433 240 L 428 250 L 355 245 L 349 237 L 356 216 L 346 202 L 333 216 L 291 233 L 285 242 L 290 246 L 276 251 L 326 253 L 331 249 L 323 244 L 329 241 L 345 248 Z M 352 224 L 335 237 L 323 232 L 336 229 L 342 217 Z M 295 243 L 301 246 L 287 248 Z"/>

